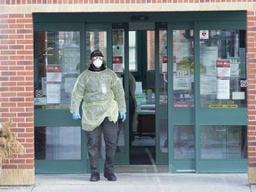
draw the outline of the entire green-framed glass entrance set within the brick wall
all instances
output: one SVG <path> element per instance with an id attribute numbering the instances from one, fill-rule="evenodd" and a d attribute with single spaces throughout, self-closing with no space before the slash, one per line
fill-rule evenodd
<path id="1" fill-rule="evenodd" d="M 149 20 L 130 25 L 137 13 L 35 13 L 36 173 L 90 170 L 85 135 L 81 122 L 70 117 L 69 99 L 94 49 L 103 52 L 108 68 L 123 81 L 128 106 L 130 73 L 140 87 L 139 108 L 133 106 L 138 124 L 132 127 L 127 107 L 116 166 L 246 172 L 246 15 L 147 12 Z M 93 23 L 92 16 L 97 18 Z M 224 65 L 226 60 L 230 65 Z M 56 84 L 47 82 L 52 73 L 60 76 Z"/>

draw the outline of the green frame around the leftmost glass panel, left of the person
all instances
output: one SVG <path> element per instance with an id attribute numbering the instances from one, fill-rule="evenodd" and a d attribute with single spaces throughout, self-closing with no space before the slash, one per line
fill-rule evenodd
<path id="1" fill-rule="evenodd" d="M 80 60 L 83 63 L 84 59 L 84 23 L 36 23 L 34 31 L 79 31 L 81 39 Z M 36 43 L 36 41 L 35 41 Z M 34 50 L 36 57 L 38 48 Z M 35 63 L 36 66 L 37 63 Z M 36 69 L 36 68 L 35 68 Z M 36 71 L 35 71 L 36 73 Z M 38 74 L 35 74 L 38 76 Z M 52 118 L 54 116 L 54 118 Z M 35 109 L 35 127 L 40 126 L 80 126 L 81 121 L 74 121 L 71 118 L 69 109 Z M 81 132 L 81 160 L 36 160 L 36 173 L 83 173 L 87 168 L 84 164 L 86 153 L 82 150 L 85 144 L 84 132 Z M 47 168 L 45 168 L 47 167 Z"/>

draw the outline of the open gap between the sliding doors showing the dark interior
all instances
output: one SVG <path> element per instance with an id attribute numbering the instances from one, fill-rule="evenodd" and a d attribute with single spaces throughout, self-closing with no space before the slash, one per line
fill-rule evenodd
<path id="1" fill-rule="evenodd" d="M 135 62 L 129 62 L 129 72 L 136 88 L 135 100 L 129 100 L 129 127 L 132 127 L 129 160 L 130 164 L 156 164 L 155 30 L 129 31 L 130 48 L 129 59 Z M 130 83 L 129 91 L 131 86 Z M 131 108 L 133 102 L 135 108 Z"/>

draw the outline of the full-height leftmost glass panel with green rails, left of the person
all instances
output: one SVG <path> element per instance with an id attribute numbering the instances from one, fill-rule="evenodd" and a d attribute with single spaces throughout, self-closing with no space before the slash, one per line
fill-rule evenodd
<path id="1" fill-rule="evenodd" d="M 81 28 L 44 27 L 35 27 L 34 34 L 36 173 L 82 173 L 81 127 L 69 112 L 72 88 L 80 73 Z"/>

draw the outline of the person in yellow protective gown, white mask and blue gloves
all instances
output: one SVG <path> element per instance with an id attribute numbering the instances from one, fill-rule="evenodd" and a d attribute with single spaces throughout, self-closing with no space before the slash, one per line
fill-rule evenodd
<path id="1" fill-rule="evenodd" d="M 98 157 L 100 135 L 106 144 L 104 177 L 115 181 L 114 156 L 118 132 L 118 112 L 122 122 L 126 119 L 124 88 L 116 73 L 108 68 L 100 51 L 91 54 L 90 68 L 78 76 L 71 95 L 70 112 L 73 119 L 81 118 L 79 106 L 82 104 L 82 129 L 86 132 L 87 152 L 91 167 L 91 181 L 100 180 Z"/>

